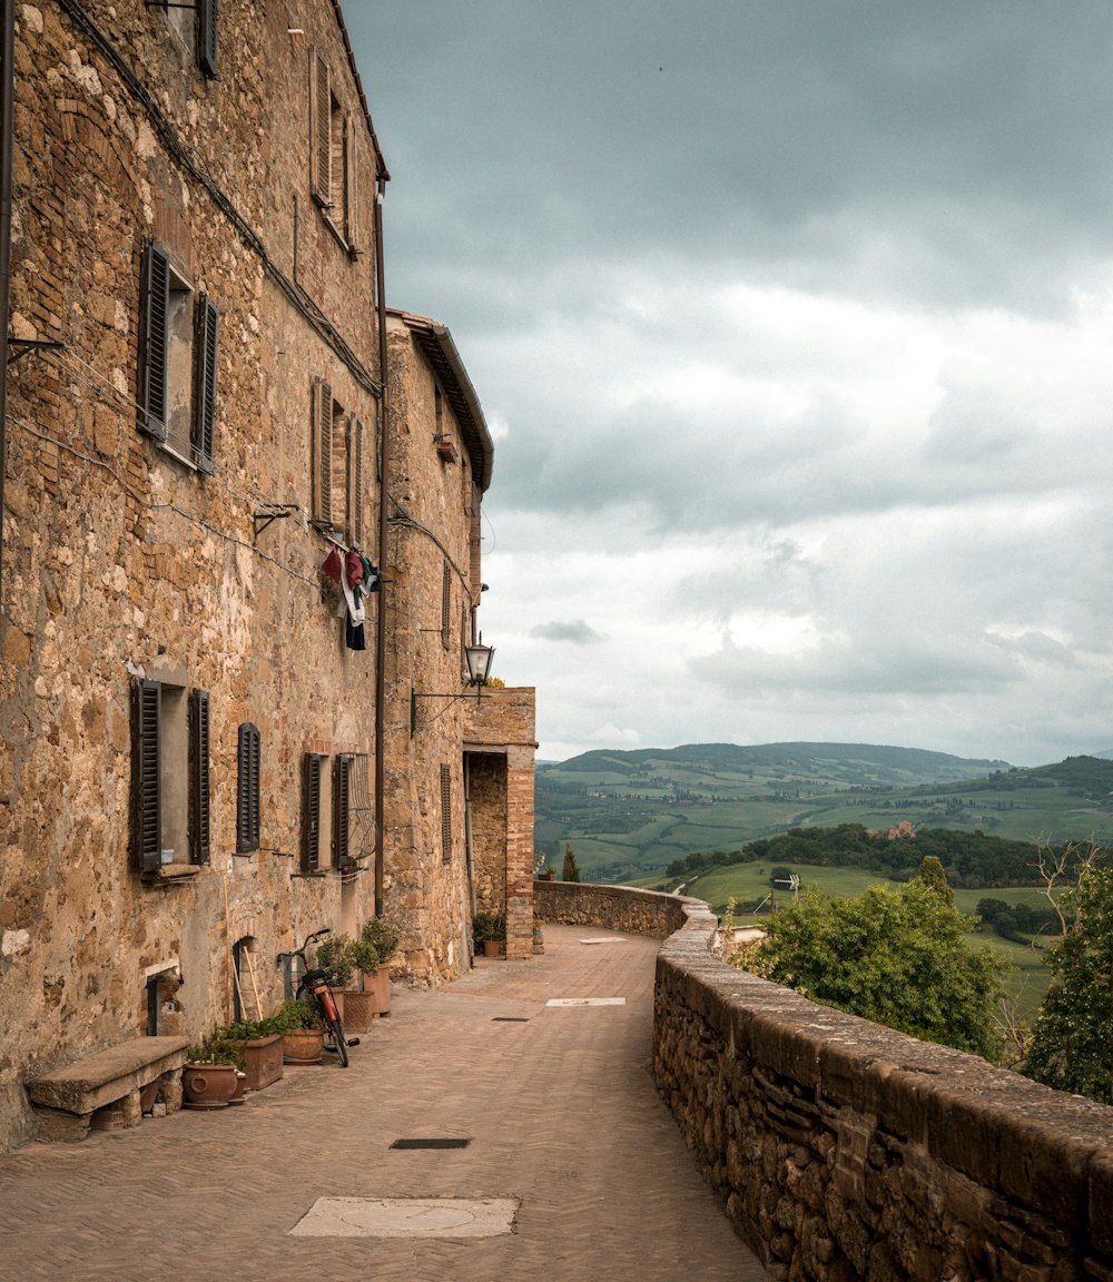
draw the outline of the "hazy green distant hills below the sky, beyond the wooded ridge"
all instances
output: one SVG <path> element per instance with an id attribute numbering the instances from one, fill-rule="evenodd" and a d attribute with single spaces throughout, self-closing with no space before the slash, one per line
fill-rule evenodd
<path id="1" fill-rule="evenodd" d="M 687 744 L 539 763 L 536 847 L 571 844 L 585 877 L 628 881 L 694 851 L 840 823 L 1113 840 L 1113 760 L 1007 762 L 872 744 Z"/>

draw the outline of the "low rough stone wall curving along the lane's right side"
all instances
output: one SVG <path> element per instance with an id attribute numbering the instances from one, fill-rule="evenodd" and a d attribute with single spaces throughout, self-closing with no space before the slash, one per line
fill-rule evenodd
<path id="1" fill-rule="evenodd" d="M 677 905 L 658 1087 L 774 1278 L 1113 1282 L 1113 1109 L 736 970 Z"/>

